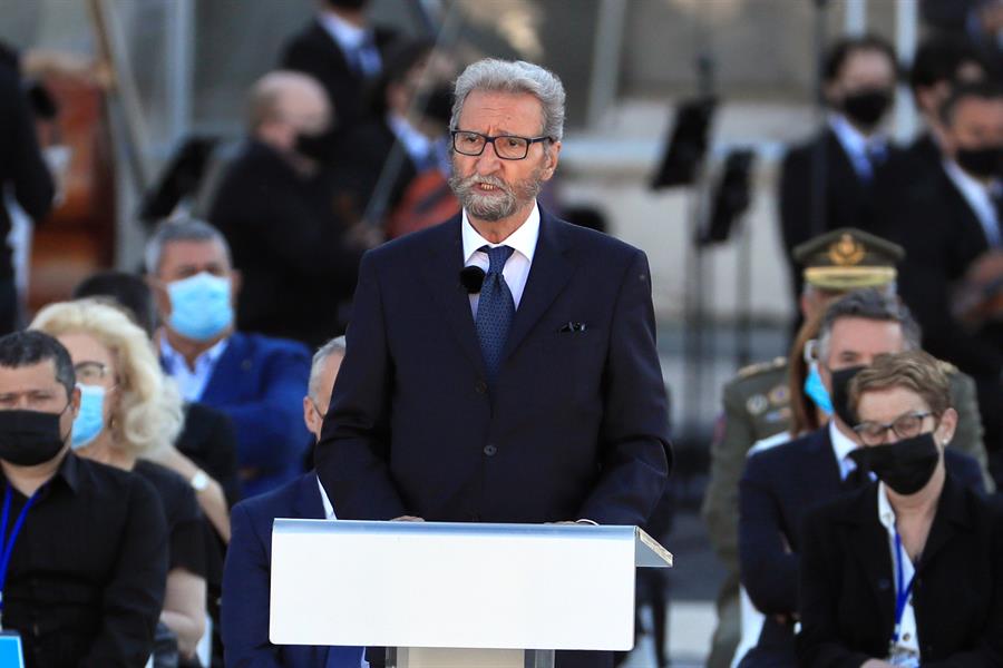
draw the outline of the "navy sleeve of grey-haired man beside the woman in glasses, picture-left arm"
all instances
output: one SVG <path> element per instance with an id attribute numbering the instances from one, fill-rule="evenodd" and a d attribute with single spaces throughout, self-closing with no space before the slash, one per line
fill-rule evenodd
<path id="1" fill-rule="evenodd" d="M 753 454 L 739 483 L 739 566 L 742 584 L 766 615 L 789 615 L 798 605 L 798 556 L 783 537 L 769 461 Z"/>

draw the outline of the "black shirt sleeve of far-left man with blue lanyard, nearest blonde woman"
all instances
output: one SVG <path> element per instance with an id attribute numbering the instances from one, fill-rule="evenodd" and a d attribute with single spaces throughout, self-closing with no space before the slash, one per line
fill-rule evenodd
<path id="1" fill-rule="evenodd" d="M 142 666 L 153 651 L 167 582 L 167 521 L 156 491 L 138 475 L 128 503 L 118 561 L 101 602 L 101 630 L 79 668 Z"/>

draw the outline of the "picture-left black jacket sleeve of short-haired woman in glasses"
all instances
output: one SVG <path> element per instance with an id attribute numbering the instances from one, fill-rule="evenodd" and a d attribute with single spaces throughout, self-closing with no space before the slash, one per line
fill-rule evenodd
<path id="1" fill-rule="evenodd" d="M 801 524 L 798 659 L 802 666 L 858 668 L 871 657 L 843 645 L 836 625 L 840 583 L 839 569 L 834 567 L 850 557 L 835 547 L 836 541 L 826 541 L 831 524 L 821 510 L 807 513 Z"/>

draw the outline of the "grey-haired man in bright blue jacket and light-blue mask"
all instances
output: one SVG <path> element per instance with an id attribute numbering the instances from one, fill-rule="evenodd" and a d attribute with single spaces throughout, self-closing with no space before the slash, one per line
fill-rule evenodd
<path id="1" fill-rule="evenodd" d="M 230 415 L 244 497 L 292 480 L 309 446 L 300 416 L 310 352 L 293 341 L 234 331 L 240 273 L 207 223 L 168 220 L 146 245 L 164 370 L 185 401 Z"/>

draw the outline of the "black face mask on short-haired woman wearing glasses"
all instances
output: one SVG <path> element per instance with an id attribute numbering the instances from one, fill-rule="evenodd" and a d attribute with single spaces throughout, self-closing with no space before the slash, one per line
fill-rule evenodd
<path id="1" fill-rule="evenodd" d="M 925 488 L 941 461 L 931 432 L 887 445 L 857 448 L 849 455 L 858 466 L 904 497 Z"/>

